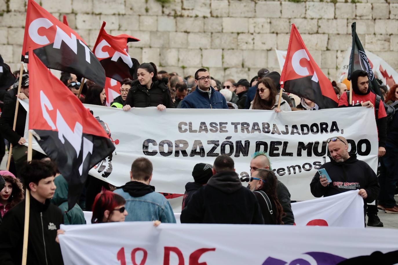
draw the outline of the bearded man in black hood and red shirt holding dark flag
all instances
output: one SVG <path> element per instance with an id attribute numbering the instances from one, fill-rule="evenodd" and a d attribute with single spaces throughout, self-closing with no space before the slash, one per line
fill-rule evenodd
<path id="1" fill-rule="evenodd" d="M 343 93 L 339 100 L 339 107 L 344 106 L 367 106 L 373 108 L 376 104 L 376 94 L 371 93 L 369 89 L 369 78 L 367 72 L 363 70 L 356 70 L 351 75 L 352 82 L 352 103 L 348 104 L 348 93 Z M 348 94 L 348 95 L 347 95 Z M 384 109 L 383 102 L 380 100 L 380 106 L 375 116 L 378 132 L 378 157 L 382 157 L 386 153 L 386 126 L 387 126 L 387 114 Z"/>

